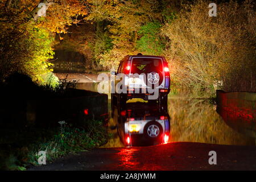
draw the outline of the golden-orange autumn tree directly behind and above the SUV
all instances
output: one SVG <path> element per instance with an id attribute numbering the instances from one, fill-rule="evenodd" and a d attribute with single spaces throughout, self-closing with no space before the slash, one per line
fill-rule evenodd
<path id="1" fill-rule="evenodd" d="M 138 32 L 144 24 L 157 22 L 162 16 L 158 10 L 159 1 L 88 1 L 88 13 L 86 20 L 100 24 L 105 22 L 101 28 L 102 35 L 109 36 L 106 42 L 113 44 L 104 52 L 97 52 L 97 59 L 104 67 L 117 67 L 122 57 L 137 54 L 137 40 L 140 38 Z M 104 36 L 101 36 L 101 39 Z M 97 41 L 96 41 L 97 42 Z M 110 45 L 110 44 L 109 44 Z M 151 52 L 154 53 L 154 52 Z"/>

